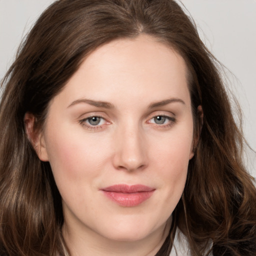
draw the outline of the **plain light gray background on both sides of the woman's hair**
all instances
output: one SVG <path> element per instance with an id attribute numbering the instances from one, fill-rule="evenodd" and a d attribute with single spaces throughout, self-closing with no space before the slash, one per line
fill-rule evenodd
<path id="1" fill-rule="evenodd" d="M 0 77 L 34 20 L 53 0 L 0 0 Z M 256 150 L 256 0 L 181 0 L 199 34 L 231 72 L 230 88 L 244 113 L 244 134 Z M 256 155 L 248 151 L 249 170 L 256 177 Z"/>

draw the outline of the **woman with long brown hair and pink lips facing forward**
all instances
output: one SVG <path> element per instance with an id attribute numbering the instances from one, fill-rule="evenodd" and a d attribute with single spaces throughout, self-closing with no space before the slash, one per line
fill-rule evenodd
<path id="1" fill-rule="evenodd" d="M 2 86 L 1 255 L 255 253 L 243 138 L 174 1 L 56 1 Z"/>

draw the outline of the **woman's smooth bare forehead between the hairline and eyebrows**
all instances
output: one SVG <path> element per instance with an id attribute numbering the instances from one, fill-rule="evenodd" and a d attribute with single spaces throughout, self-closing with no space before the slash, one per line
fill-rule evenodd
<path id="1" fill-rule="evenodd" d="M 121 38 L 91 52 L 62 92 L 66 102 L 81 97 L 137 104 L 167 97 L 187 101 L 187 67 L 180 54 L 151 36 Z"/>

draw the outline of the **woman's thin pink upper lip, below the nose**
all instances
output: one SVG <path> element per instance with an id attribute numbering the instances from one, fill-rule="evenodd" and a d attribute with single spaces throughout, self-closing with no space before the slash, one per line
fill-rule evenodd
<path id="1" fill-rule="evenodd" d="M 135 184 L 135 185 L 115 184 L 115 185 L 104 187 L 101 190 L 107 191 L 107 192 L 136 193 L 136 192 L 152 191 L 152 190 L 155 190 L 155 188 L 142 185 L 142 184 Z"/>

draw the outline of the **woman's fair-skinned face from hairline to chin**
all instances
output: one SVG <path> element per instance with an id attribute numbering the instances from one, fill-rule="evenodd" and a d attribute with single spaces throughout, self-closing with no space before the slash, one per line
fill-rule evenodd
<path id="1" fill-rule="evenodd" d="M 40 142 L 70 233 L 162 232 L 193 156 L 184 60 L 149 36 L 98 47 L 50 102 Z"/>

